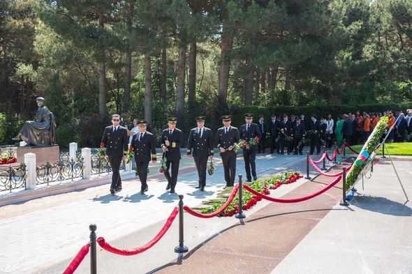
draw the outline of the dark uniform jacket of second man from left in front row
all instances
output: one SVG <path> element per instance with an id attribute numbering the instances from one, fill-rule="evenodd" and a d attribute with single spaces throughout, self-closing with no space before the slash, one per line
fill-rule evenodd
<path id="1" fill-rule="evenodd" d="M 142 139 L 139 141 L 140 132 L 133 135 L 131 147 L 135 151 L 136 162 L 156 161 L 156 146 L 154 136 L 150 132 L 145 132 Z"/>

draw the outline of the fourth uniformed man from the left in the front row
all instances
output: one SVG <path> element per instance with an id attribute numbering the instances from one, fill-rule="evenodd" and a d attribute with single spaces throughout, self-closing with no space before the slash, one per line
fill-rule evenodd
<path id="1" fill-rule="evenodd" d="M 193 159 L 195 160 L 196 169 L 198 169 L 199 185 L 201 191 L 205 191 L 206 186 L 206 168 L 207 158 L 213 159 L 213 139 L 212 130 L 205 128 L 205 116 L 197 116 L 197 128 L 192 128 L 187 141 L 187 158 L 191 158 L 191 149 L 193 149 Z"/>

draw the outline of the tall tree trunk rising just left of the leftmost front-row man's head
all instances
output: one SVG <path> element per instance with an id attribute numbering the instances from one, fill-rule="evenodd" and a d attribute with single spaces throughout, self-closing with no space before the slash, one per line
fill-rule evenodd
<path id="1" fill-rule="evenodd" d="M 103 13 L 98 13 L 98 23 L 101 29 L 104 28 Z M 101 50 L 101 60 L 98 61 L 98 114 L 100 116 L 108 116 L 108 108 L 106 107 L 106 66 L 105 66 L 105 50 Z"/>

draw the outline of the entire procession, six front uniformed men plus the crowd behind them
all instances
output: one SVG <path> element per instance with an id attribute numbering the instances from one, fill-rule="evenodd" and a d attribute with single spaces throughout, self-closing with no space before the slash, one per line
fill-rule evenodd
<path id="1" fill-rule="evenodd" d="M 223 127 L 217 130 L 216 135 L 211 129 L 205 127 L 205 116 L 196 117 L 196 128 L 189 133 L 186 156 L 193 158 L 198 170 L 198 186 L 205 190 L 206 170 L 208 160 L 214 157 L 214 148 L 217 146 L 224 169 L 226 187 L 233 187 L 236 176 L 237 152 L 242 149 L 244 167 L 247 174 L 246 181 L 257 180 L 255 159 L 257 153 L 265 153 L 267 147 L 270 153 L 302 155 L 303 147 L 310 142 L 310 154 L 321 153 L 321 146 L 332 147 L 336 142 L 341 147 L 344 140 L 349 145 L 366 142 L 371 132 L 382 116 L 388 116 L 388 130 L 392 128 L 386 142 L 412 142 L 412 109 L 408 109 L 405 115 L 402 111 L 393 114 L 391 111 L 355 114 L 343 114 L 337 116 L 336 122 L 332 115 L 326 118 L 311 114 L 310 121 L 304 115 L 295 116 L 284 114 L 279 116 L 272 114 L 270 121 L 265 122 L 263 115 L 258 116 L 258 121 L 253 123 L 253 114 L 244 114 L 245 123 L 240 128 L 231 125 L 232 117 L 221 117 Z M 152 161 L 156 164 L 156 142 L 154 135 L 147 131 L 147 121 L 135 119 L 133 128 L 119 125 L 120 116 L 112 116 L 112 125 L 105 128 L 102 143 L 106 148 L 106 155 L 112 167 L 112 185 L 110 192 L 122 190 L 122 180 L 119 174 L 122 158 L 126 160 L 129 148 L 134 152 L 134 162 L 137 174 L 142 184 L 140 193 L 148 191 L 147 167 Z M 164 175 L 168 181 L 166 190 L 175 193 L 179 161 L 181 160 L 180 148 L 183 144 L 183 132 L 176 128 L 177 118 L 168 119 L 168 128 L 161 135 L 161 149 L 163 150 L 162 164 Z M 215 137 L 214 137 L 215 136 Z M 269 144 L 270 143 L 270 144 Z M 217 145 L 215 145 L 217 144 Z M 171 169 L 171 170 L 170 170 Z"/>

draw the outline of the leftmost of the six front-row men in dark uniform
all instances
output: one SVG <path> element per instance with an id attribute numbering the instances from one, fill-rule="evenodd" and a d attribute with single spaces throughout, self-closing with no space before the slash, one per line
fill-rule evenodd
<path id="1" fill-rule="evenodd" d="M 119 125 L 120 115 L 112 115 L 112 125 L 105 128 L 101 142 L 106 148 L 106 155 L 112 167 L 112 185 L 110 185 L 110 193 L 115 194 L 115 191 L 122 190 L 122 178 L 120 178 L 120 164 L 126 160 L 128 138 L 126 128 Z"/>

